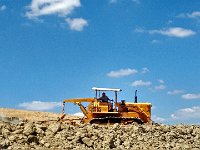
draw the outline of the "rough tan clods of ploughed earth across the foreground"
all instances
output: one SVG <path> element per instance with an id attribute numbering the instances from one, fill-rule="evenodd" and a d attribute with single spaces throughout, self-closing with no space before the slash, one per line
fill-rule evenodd
<path id="1" fill-rule="evenodd" d="M 197 125 L 0 122 L 0 149 L 200 149 Z"/>

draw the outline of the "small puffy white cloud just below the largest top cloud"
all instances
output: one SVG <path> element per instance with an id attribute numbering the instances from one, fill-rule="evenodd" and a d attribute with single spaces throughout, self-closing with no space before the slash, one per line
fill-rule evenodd
<path id="1" fill-rule="evenodd" d="M 69 24 L 70 29 L 75 31 L 82 31 L 88 25 L 88 22 L 83 18 L 67 18 L 65 21 Z"/>

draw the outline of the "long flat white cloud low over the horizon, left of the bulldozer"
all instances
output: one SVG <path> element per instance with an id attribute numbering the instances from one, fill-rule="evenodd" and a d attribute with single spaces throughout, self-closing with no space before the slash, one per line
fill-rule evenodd
<path id="1" fill-rule="evenodd" d="M 61 107 L 62 103 L 61 102 L 32 101 L 32 102 L 20 103 L 18 106 L 27 110 L 45 111 L 45 110 L 52 110 L 56 107 Z"/>

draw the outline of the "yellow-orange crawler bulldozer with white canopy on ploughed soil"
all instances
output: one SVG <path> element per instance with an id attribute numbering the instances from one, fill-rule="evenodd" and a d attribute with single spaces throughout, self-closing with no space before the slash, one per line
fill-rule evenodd
<path id="1" fill-rule="evenodd" d="M 132 123 L 148 123 L 151 121 L 151 103 L 138 103 L 137 90 L 135 91 L 134 102 L 126 102 L 121 100 L 118 102 L 118 92 L 121 89 L 114 88 L 97 88 L 93 87 L 95 91 L 94 98 L 74 98 L 63 100 L 61 120 L 65 117 L 65 103 L 74 103 L 78 105 L 84 114 L 81 123 L 90 124 L 132 124 Z M 102 100 L 100 95 L 104 92 L 114 92 L 114 99 Z M 82 103 L 89 103 L 84 107 Z"/>

